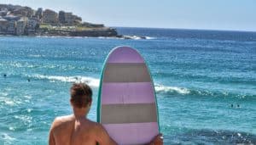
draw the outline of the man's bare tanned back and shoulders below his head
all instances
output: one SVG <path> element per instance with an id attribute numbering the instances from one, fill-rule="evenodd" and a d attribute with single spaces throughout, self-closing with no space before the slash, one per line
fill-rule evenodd
<path id="1" fill-rule="evenodd" d="M 60 145 L 96 145 L 116 144 L 102 125 L 87 120 L 75 118 L 73 115 L 57 117 L 49 132 L 49 144 Z"/>

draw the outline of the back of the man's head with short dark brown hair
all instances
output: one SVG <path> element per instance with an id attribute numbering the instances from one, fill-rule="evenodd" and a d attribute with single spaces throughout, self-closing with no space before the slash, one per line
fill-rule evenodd
<path id="1" fill-rule="evenodd" d="M 70 103 L 73 109 L 90 109 L 92 91 L 85 83 L 74 83 L 70 88 Z"/>

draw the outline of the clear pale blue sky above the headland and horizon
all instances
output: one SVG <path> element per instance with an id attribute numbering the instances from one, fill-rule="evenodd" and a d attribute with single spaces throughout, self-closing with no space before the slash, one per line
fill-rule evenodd
<path id="1" fill-rule="evenodd" d="M 108 26 L 256 31 L 256 0 L 0 0 Z"/>

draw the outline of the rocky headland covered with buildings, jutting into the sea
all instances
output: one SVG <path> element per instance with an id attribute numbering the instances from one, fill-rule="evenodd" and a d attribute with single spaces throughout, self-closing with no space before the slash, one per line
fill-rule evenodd
<path id="1" fill-rule="evenodd" d="M 115 28 L 83 21 L 72 12 L 0 3 L 0 36 L 90 36 L 147 39 L 122 36 Z"/>

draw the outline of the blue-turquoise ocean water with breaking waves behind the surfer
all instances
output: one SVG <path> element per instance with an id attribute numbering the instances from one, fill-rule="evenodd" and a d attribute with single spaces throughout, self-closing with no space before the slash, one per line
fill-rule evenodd
<path id="1" fill-rule="evenodd" d="M 96 121 L 102 65 L 117 46 L 148 62 L 165 144 L 256 144 L 256 32 L 117 30 L 146 39 L 0 36 L 0 144 L 47 144 L 55 117 L 72 113 L 75 81 L 92 87 Z"/>

